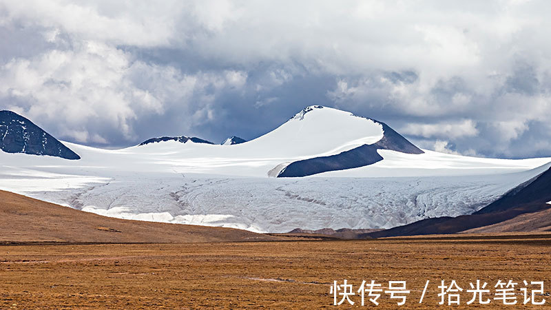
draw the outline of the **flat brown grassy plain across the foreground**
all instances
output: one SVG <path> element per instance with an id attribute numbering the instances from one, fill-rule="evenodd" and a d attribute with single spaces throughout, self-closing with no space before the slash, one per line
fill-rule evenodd
<path id="1" fill-rule="evenodd" d="M 406 280 L 406 305 L 439 307 L 440 280 L 541 280 L 551 289 L 551 234 L 354 241 L 2 245 L 0 308 L 333 308 L 333 280 Z M 426 280 L 424 302 L 419 304 Z M 518 291 L 519 302 L 523 301 Z M 551 306 L 551 297 L 545 306 Z M 356 306 L 360 297 L 353 296 Z M 395 308 L 383 294 L 377 308 Z M 492 300 L 488 308 L 501 308 Z"/>

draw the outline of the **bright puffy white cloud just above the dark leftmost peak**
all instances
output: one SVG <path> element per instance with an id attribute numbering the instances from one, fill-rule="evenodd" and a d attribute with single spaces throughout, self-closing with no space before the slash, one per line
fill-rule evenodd
<path id="1" fill-rule="evenodd" d="M 0 95 L 25 101 L 25 114 L 32 119 L 62 118 L 67 126 L 79 126 L 101 118 L 130 137 L 128 121 L 136 117 L 131 105 L 160 105 L 132 89 L 125 79 L 130 66 L 124 52 L 86 42 L 75 50 L 6 63 L 0 68 Z M 64 134 L 87 141 L 82 130 Z"/>

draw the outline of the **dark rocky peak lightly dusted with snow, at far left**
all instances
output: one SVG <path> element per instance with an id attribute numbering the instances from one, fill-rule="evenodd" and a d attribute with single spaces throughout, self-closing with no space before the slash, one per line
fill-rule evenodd
<path id="1" fill-rule="evenodd" d="M 11 111 L 0 111 L 0 136 L 0 149 L 4 152 L 48 155 L 65 159 L 81 158 L 41 127 Z"/>

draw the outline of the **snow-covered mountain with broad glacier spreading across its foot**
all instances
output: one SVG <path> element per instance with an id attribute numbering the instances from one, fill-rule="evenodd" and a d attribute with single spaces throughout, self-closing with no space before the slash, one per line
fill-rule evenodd
<path id="1" fill-rule="evenodd" d="M 231 147 L 158 141 L 116 150 L 66 143 L 80 161 L 0 152 L 0 189 L 136 220 L 370 229 L 472 214 L 551 162 L 422 150 L 384 123 L 320 106 Z M 290 172 L 311 176 L 269 178 Z"/>

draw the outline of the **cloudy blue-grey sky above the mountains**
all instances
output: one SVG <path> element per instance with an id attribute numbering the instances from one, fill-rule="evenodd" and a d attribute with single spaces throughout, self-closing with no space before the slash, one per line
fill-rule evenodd
<path id="1" fill-rule="evenodd" d="M 550 1 L 0 0 L 0 110 L 126 147 L 308 105 L 439 152 L 551 156 Z"/>

